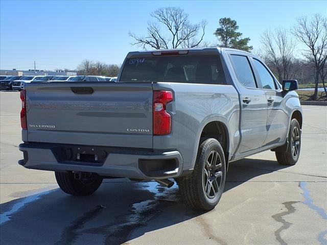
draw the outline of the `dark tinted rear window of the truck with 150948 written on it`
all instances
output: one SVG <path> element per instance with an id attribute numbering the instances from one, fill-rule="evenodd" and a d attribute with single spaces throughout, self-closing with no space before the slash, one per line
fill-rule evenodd
<path id="1" fill-rule="evenodd" d="M 176 55 L 126 59 L 121 82 L 226 84 L 218 55 Z"/>

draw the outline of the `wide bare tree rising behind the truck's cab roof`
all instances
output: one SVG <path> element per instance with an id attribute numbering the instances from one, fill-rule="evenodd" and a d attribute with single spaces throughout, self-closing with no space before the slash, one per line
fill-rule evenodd
<path id="1" fill-rule="evenodd" d="M 203 41 L 207 22 L 191 24 L 189 14 L 183 9 L 176 7 L 159 8 L 151 13 L 156 21 L 148 21 L 147 35 L 138 36 L 129 32 L 129 36 L 135 39 L 132 45 L 139 45 L 156 50 L 163 48 L 197 47 Z M 161 31 L 161 27 L 165 32 Z M 200 37 L 198 37 L 200 34 Z"/>

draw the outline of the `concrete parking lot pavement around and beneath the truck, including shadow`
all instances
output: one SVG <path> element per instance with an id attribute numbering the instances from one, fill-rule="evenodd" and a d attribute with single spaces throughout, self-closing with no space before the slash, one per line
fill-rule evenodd
<path id="1" fill-rule="evenodd" d="M 1 244 L 327 244 L 327 107 L 303 106 L 295 166 L 268 151 L 231 164 L 210 212 L 194 212 L 176 184 L 105 180 L 90 197 L 63 193 L 54 173 L 22 158 L 18 92 L 0 92 Z"/>

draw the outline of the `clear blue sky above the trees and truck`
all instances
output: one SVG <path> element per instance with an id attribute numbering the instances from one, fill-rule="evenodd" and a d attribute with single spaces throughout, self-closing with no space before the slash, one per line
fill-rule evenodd
<path id="1" fill-rule="evenodd" d="M 326 15 L 326 1 L 1 1 L 1 69 L 75 68 L 83 59 L 121 64 L 132 46 L 128 32 L 146 34 L 150 13 L 180 7 L 193 23 L 208 21 L 205 40 L 218 20 L 237 20 L 250 45 L 260 47 L 267 28 L 289 28 L 302 15 Z"/>

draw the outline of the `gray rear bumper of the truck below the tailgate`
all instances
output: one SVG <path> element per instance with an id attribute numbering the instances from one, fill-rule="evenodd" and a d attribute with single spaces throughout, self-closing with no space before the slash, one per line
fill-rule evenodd
<path id="1" fill-rule="evenodd" d="M 178 151 L 42 143 L 22 143 L 19 145 L 19 150 L 24 153 L 24 160 L 18 163 L 32 169 L 82 171 L 101 176 L 133 179 L 167 179 L 178 177 L 182 173 L 182 157 Z M 99 154 L 105 151 L 107 154 L 102 162 L 76 159 L 77 154 L 90 153 L 90 151 Z"/>

